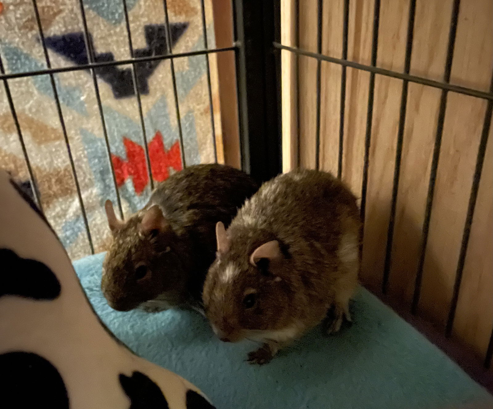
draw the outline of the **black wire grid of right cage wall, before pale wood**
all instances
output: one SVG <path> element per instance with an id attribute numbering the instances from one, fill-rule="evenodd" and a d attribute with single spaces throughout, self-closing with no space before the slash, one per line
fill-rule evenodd
<path id="1" fill-rule="evenodd" d="M 296 1 L 295 10 L 296 13 L 299 12 L 299 1 Z M 445 121 L 445 110 L 447 106 L 447 95 L 449 92 L 455 92 L 458 94 L 468 95 L 476 98 L 480 98 L 487 101 L 486 113 L 484 117 L 484 123 L 481 132 L 481 138 L 479 142 L 479 148 L 477 152 L 476 165 L 474 170 L 474 176 L 472 180 L 472 187 L 469 195 L 469 204 L 467 207 L 466 220 L 463 228 L 462 240 L 459 251 L 459 258 L 457 264 L 457 271 L 455 275 L 455 283 L 452 294 L 451 306 L 448 313 L 448 318 L 445 327 L 445 335 L 450 337 L 452 335 L 452 329 L 455 319 L 455 313 L 458 305 L 458 295 L 460 291 L 460 284 L 462 280 L 462 273 L 464 269 L 465 256 L 467 252 L 467 245 L 474 215 L 474 208 L 476 204 L 476 199 L 479 189 L 479 181 L 481 178 L 481 172 L 483 170 L 484 157 L 486 152 L 486 144 L 488 141 L 489 131 L 492 121 L 492 111 L 493 111 L 493 73 L 492 82 L 488 92 L 477 90 L 474 88 L 463 87 L 459 85 L 454 85 L 450 83 L 452 61 L 454 57 L 454 45 L 457 34 L 458 25 L 458 14 L 459 14 L 460 0 L 454 0 L 452 5 L 452 15 L 449 28 L 449 38 L 447 55 L 445 62 L 445 70 L 443 75 L 443 81 L 431 80 L 422 76 L 411 75 L 411 54 L 413 46 L 413 31 L 415 23 L 415 11 L 416 11 L 416 0 L 411 0 L 409 2 L 408 10 L 408 24 L 407 24 L 407 40 L 406 40 L 406 50 L 405 50 L 405 61 L 403 72 L 394 71 L 390 69 L 377 67 L 377 49 L 378 49 L 378 32 L 379 32 L 379 22 L 380 22 L 380 0 L 375 0 L 374 2 L 374 18 L 373 18 L 373 35 L 372 35 L 372 49 L 371 49 L 371 64 L 365 65 L 356 63 L 354 61 L 348 60 L 348 22 L 349 22 L 349 0 L 344 1 L 344 11 L 343 11 L 343 33 L 342 33 L 342 58 L 336 58 L 329 55 L 322 54 L 322 15 L 323 15 L 323 1 L 317 1 L 317 52 L 311 52 L 299 48 L 298 46 L 288 46 L 282 44 L 281 42 L 274 42 L 273 46 L 277 50 L 286 50 L 297 56 L 310 57 L 317 60 L 316 68 L 316 136 L 315 136 L 315 168 L 320 168 L 320 88 L 321 88 L 321 76 L 320 76 L 320 63 L 326 61 L 329 63 L 338 64 L 342 68 L 341 75 L 341 102 L 340 102 L 340 126 L 339 126 L 339 151 L 338 151 L 338 167 L 337 176 L 341 177 L 341 168 L 343 161 L 343 142 L 344 142 L 344 121 L 345 121 L 345 84 L 346 84 L 346 68 L 356 68 L 358 70 L 369 72 L 369 92 L 368 92 L 368 102 L 367 102 L 367 121 L 366 121 L 366 133 L 365 133 L 365 144 L 364 144 L 364 159 L 363 159 L 363 171 L 362 171 L 362 188 L 361 188 L 361 220 L 365 220 L 365 210 L 366 210 L 366 195 L 367 195 L 367 185 L 368 185 L 368 169 L 369 169 L 369 159 L 370 159 L 370 146 L 371 146 L 371 128 L 373 123 L 373 103 L 374 103 L 374 93 L 375 93 L 375 74 L 384 75 L 387 77 L 393 77 L 402 80 L 402 90 L 401 90 L 401 101 L 400 101 L 400 112 L 399 112 L 399 122 L 398 122 L 398 133 L 397 133 L 397 143 L 396 143 L 396 153 L 395 153 L 395 164 L 393 172 L 393 182 L 392 182 L 392 195 L 390 203 L 390 214 L 389 223 L 387 228 L 387 244 L 385 251 L 385 264 L 384 264 L 384 275 L 381 283 L 382 294 L 387 292 L 387 284 L 390 274 L 390 261 L 392 257 L 392 243 L 395 225 L 395 213 L 396 213 L 396 203 L 397 203 L 397 193 L 399 187 L 399 174 L 401 166 L 401 154 L 402 154 L 402 143 L 404 136 L 404 123 L 406 120 L 406 105 L 407 105 L 407 94 L 408 85 L 410 82 L 426 85 L 433 88 L 440 89 L 441 98 L 440 106 L 438 112 L 438 122 L 435 133 L 435 144 L 433 149 L 433 156 L 431 162 L 431 171 L 428 182 L 428 192 L 426 198 L 426 207 L 424 213 L 422 238 L 420 245 L 420 257 L 418 262 L 417 275 L 414 284 L 414 292 L 412 298 L 411 311 L 413 314 L 417 313 L 417 308 L 420 300 L 421 285 L 423 279 L 423 267 L 426 252 L 426 244 L 429 234 L 430 227 L 430 217 L 433 205 L 433 195 L 435 191 L 435 180 L 437 176 L 438 169 L 438 158 L 440 154 L 442 133 Z M 295 17 L 295 21 L 298 21 L 298 15 Z M 296 44 L 299 44 L 299 27 L 296 30 Z M 298 81 L 298 96 L 299 96 L 299 81 Z M 299 100 L 297 103 L 298 107 L 298 118 L 300 117 L 300 104 Z M 298 123 L 298 146 L 299 146 L 299 123 Z M 299 163 L 299 150 L 298 150 L 298 163 Z M 362 244 L 360 247 L 360 252 L 362 250 Z M 484 366 L 489 368 L 491 366 L 493 357 L 493 332 L 491 334 L 490 342 L 488 345 L 486 357 L 484 360 Z"/>

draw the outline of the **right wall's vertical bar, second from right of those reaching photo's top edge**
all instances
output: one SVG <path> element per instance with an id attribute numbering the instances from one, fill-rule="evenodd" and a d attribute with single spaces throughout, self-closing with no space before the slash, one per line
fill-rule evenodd
<path id="1" fill-rule="evenodd" d="M 407 26 L 406 57 L 404 62 L 404 72 L 409 74 L 411 69 L 411 54 L 413 51 L 414 17 L 416 12 L 416 0 L 409 2 L 409 20 Z M 385 250 L 384 276 L 382 279 L 382 293 L 387 293 L 388 277 L 390 274 L 390 262 L 392 257 L 392 243 L 395 227 L 395 207 L 397 205 L 397 193 L 399 191 L 399 176 L 402 157 L 402 142 L 404 140 L 404 127 L 406 124 L 407 93 L 409 81 L 402 81 L 401 102 L 399 112 L 399 128 L 397 131 L 397 145 L 395 147 L 394 177 L 392 182 L 392 200 L 390 203 L 390 214 L 388 218 L 387 245 Z"/>

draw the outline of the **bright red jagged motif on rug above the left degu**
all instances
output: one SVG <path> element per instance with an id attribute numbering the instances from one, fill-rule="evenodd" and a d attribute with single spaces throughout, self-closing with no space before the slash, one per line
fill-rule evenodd
<path id="1" fill-rule="evenodd" d="M 120 187 L 131 177 L 135 193 L 140 195 L 145 189 L 145 186 L 147 186 L 147 183 L 149 183 L 144 148 L 127 137 L 123 138 L 123 145 L 127 153 L 127 161 L 117 155 L 111 154 L 116 184 Z M 163 136 L 158 131 L 147 147 L 152 177 L 156 182 L 162 182 L 168 179 L 170 176 L 169 168 L 173 168 L 176 171 L 183 169 L 178 141 L 169 150 L 166 150 Z"/>

